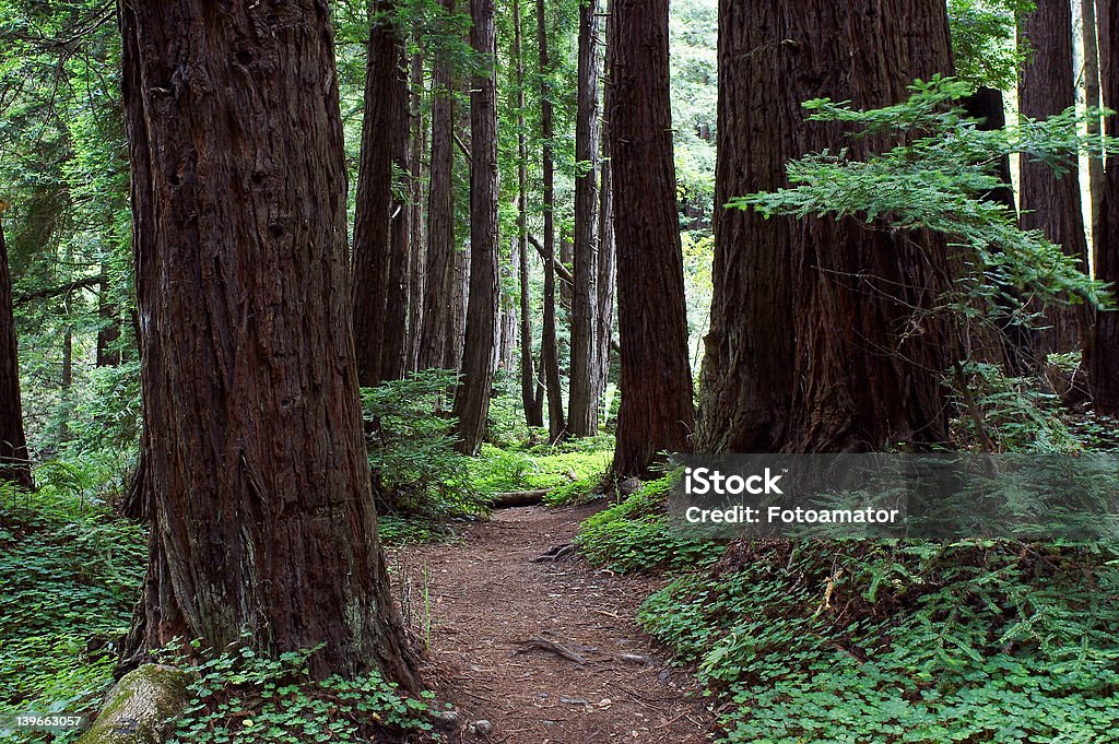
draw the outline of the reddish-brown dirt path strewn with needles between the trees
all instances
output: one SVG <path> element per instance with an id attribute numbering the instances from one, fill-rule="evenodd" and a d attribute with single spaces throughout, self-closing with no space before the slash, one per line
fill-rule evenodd
<path id="1" fill-rule="evenodd" d="M 692 679 L 634 621 L 664 580 L 614 576 L 573 555 L 534 562 L 593 511 L 504 509 L 461 543 L 396 553 L 407 610 L 430 608 L 427 679 L 461 713 L 451 742 L 709 741 L 713 716 L 688 695 Z"/>

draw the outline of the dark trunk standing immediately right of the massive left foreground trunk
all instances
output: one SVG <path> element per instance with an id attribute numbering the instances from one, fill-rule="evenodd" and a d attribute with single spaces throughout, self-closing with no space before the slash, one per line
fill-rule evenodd
<path id="1" fill-rule="evenodd" d="M 361 163 L 354 217 L 354 342 L 363 387 L 403 375 L 402 302 L 408 209 L 398 175 L 408 166 L 408 81 L 395 0 L 378 0 L 369 30 Z M 395 172 L 394 172 L 395 171 Z"/>

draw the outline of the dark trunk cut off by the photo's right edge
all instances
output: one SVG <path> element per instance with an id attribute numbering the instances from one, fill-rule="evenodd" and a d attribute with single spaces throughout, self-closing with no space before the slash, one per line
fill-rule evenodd
<path id="1" fill-rule="evenodd" d="M 1100 59 L 1103 104 L 1119 107 L 1119 0 L 1099 0 Z M 1119 136 L 1119 122 L 1109 116 L 1109 136 Z M 1096 239 L 1096 277 L 1119 284 L 1119 159 L 1108 159 L 1100 199 Z M 1097 413 L 1119 416 L 1119 312 L 1094 313 L 1085 349 L 1092 405 Z"/>

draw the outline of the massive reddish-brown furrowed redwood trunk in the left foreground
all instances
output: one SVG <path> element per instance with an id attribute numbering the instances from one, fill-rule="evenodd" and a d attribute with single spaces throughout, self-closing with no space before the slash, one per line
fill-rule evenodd
<path id="1" fill-rule="evenodd" d="M 414 689 L 361 431 L 329 9 L 125 0 L 120 18 L 151 434 L 132 640 L 323 643 L 317 678 Z"/>

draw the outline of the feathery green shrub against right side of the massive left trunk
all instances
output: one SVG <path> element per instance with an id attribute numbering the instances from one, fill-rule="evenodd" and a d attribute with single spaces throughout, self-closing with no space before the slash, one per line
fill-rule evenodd
<path id="1" fill-rule="evenodd" d="M 485 512 L 467 479 L 470 458 L 454 449 L 455 421 L 442 413 L 455 379 L 429 369 L 361 390 L 369 465 L 398 515 L 439 521 Z"/>

